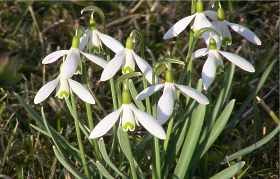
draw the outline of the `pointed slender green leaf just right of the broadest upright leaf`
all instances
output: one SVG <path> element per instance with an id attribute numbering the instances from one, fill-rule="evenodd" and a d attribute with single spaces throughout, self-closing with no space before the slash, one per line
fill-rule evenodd
<path id="1" fill-rule="evenodd" d="M 222 114 L 216 120 L 215 124 L 213 125 L 213 128 L 211 129 L 208 135 L 208 138 L 206 139 L 206 143 L 203 146 L 203 151 L 200 155 L 200 158 L 208 151 L 208 149 L 212 146 L 215 140 L 222 133 L 232 113 L 234 104 L 235 104 L 235 100 L 233 99 L 228 103 L 228 105 L 223 110 Z"/>

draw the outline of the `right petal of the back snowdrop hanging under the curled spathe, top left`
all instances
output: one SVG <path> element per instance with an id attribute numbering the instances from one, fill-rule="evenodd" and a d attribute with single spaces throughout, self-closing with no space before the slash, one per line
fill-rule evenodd
<path id="1" fill-rule="evenodd" d="M 101 32 L 99 32 L 98 35 L 101 41 L 113 52 L 118 53 L 124 49 L 123 45 L 113 37 L 105 35 Z"/>

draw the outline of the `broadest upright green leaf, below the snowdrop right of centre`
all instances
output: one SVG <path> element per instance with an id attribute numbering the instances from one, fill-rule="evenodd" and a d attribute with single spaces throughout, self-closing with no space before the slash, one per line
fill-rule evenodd
<path id="1" fill-rule="evenodd" d="M 174 175 L 178 178 L 184 178 L 189 168 L 203 126 L 205 109 L 205 105 L 199 105 L 192 114 L 187 137 L 174 171 Z"/>

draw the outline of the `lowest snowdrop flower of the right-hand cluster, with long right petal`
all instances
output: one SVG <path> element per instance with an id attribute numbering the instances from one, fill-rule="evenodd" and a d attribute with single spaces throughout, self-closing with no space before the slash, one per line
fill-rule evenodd
<path id="1" fill-rule="evenodd" d="M 210 39 L 210 45 L 208 48 L 196 50 L 193 53 L 192 59 L 200 58 L 206 55 L 207 60 L 202 68 L 202 82 L 205 90 L 207 90 L 214 81 L 217 66 L 223 65 L 222 57 L 245 71 L 255 72 L 255 68 L 246 59 L 236 54 L 218 49 L 214 39 Z"/>

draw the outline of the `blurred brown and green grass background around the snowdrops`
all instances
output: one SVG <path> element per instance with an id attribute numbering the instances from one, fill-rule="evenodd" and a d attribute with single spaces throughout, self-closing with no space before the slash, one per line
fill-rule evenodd
<path id="1" fill-rule="evenodd" d="M 207 1 L 205 8 L 211 8 L 212 4 L 213 1 Z M 157 61 L 168 54 L 181 60 L 185 58 L 186 32 L 177 38 L 176 43 L 176 39 L 164 41 L 162 36 L 177 20 L 190 14 L 189 1 L 0 2 L 0 178 L 70 177 L 55 159 L 49 140 L 30 126 L 34 121 L 14 94 L 21 95 L 26 103 L 39 111 L 40 106 L 33 104 L 33 98 L 45 81 L 57 75 L 58 69 L 57 65 L 41 65 L 41 60 L 52 51 L 70 48 L 74 25 L 87 26 L 89 14 L 81 16 L 80 11 L 89 5 L 104 11 L 106 24 L 105 27 L 99 26 L 99 30 L 122 42 L 132 30 L 142 31 L 148 61 Z M 227 19 L 253 30 L 262 40 L 262 46 L 249 44 L 234 33 L 233 45 L 228 48 L 253 63 L 256 73 L 248 74 L 236 68 L 232 98 L 237 99 L 235 110 L 240 115 L 235 118 L 240 122 L 224 131 L 211 148 L 211 155 L 205 159 L 208 163 L 215 163 L 213 167 L 217 170 L 220 166 L 216 161 L 255 143 L 275 128 L 273 120 L 254 99 L 245 107 L 243 105 L 272 61 L 276 64 L 258 96 L 279 114 L 279 2 L 223 1 L 222 5 Z M 203 47 L 204 43 L 199 46 Z M 198 60 L 195 64 L 197 78 L 202 63 L 203 60 Z M 108 89 L 98 83 L 100 69 L 94 70 L 93 90 L 101 100 L 108 99 Z M 217 96 L 221 79 L 220 74 L 210 90 L 210 98 Z M 105 108 L 111 105 L 110 100 L 107 101 L 103 104 Z M 51 97 L 44 106 L 45 112 L 52 116 L 50 122 L 57 128 L 69 121 L 63 102 Z M 96 107 L 97 115 L 99 110 L 102 109 Z M 66 132 L 66 135 L 71 139 L 70 134 Z M 279 178 L 278 138 L 244 160 L 248 167 L 244 178 Z M 201 172 L 207 171 L 207 168 L 201 168 Z"/>

